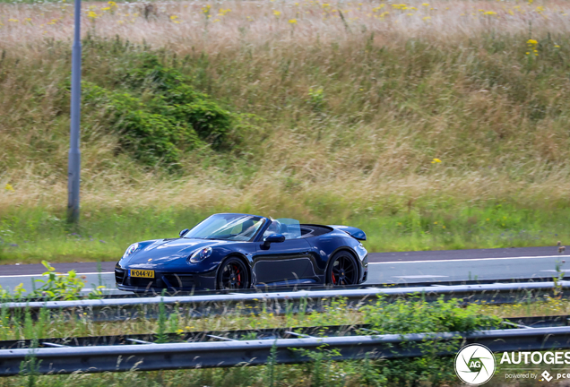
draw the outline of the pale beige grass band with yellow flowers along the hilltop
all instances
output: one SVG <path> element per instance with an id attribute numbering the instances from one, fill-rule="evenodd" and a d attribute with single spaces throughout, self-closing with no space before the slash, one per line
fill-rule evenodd
<path id="1" fill-rule="evenodd" d="M 154 47 L 168 47 L 180 54 L 193 48 L 220 54 L 242 47 L 244 43 L 254 47 L 271 44 L 274 49 L 281 45 L 303 47 L 315 45 L 317 36 L 320 43 L 340 43 L 355 39 L 354 35 L 362 31 L 376 32 L 374 42 L 378 45 L 397 46 L 408 39 L 425 39 L 439 46 L 478 39 L 481 33 L 490 30 L 510 34 L 527 32 L 530 23 L 537 33 L 567 33 L 570 29 L 570 5 L 562 0 L 500 3 L 440 0 L 405 4 L 318 0 L 171 1 L 118 3 L 117 6 L 86 2 L 82 5 L 82 14 L 83 34 L 93 29 L 100 36 L 144 40 Z M 46 37 L 62 41 L 73 37 L 72 4 L 0 4 L 0 15 L 3 23 L 0 47 L 5 49 L 22 49 Z M 296 22 L 290 22 L 292 20 Z"/>

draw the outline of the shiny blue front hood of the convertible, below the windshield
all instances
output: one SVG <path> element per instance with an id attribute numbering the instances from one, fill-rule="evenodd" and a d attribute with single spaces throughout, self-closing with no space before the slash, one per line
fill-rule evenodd
<path id="1" fill-rule="evenodd" d="M 209 239 L 157 239 L 154 241 L 142 242 L 139 250 L 129 257 L 121 260 L 121 263 L 129 266 L 136 264 L 156 266 L 168 265 L 180 259 L 186 259 L 194 251 L 204 247 L 215 247 L 228 245 L 236 241 L 209 240 Z M 142 266 L 141 266 L 142 267 Z"/>

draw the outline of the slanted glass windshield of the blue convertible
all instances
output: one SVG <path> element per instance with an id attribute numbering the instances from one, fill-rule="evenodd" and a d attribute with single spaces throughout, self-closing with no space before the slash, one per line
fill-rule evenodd
<path id="1" fill-rule="evenodd" d="M 248 241 L 262 227 L 264 219 L 253 215 L 216 214 L 186 233 L 185 238 Z"/>

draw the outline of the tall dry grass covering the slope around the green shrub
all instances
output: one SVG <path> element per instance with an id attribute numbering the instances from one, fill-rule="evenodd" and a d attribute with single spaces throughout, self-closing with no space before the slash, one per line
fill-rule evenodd
<path id="1" fill-rule="evenodd" d="M 308 218 L 321 202 L 347 214 L 420 202 L 567 204 L 570 4 L 428 3 L 84 4 L 83 36 L 188 56 L 196 87 L 266 121 L 240 159 L 189 155 L 186 174 L 167 176 L 117 155 L 117 135 L 83 116 L 83 203 Z M 0 210 L 62 209 L 68 119 L 54 100 L 68 75 L 73 7 L 0 4 L 0 22 L 0 185 L 13 187 L 1 190 Z M 524 54 L 529 38 L 544 41 L 540 56 Z M 84 76 L 111 65 L 84 63 Z"/>

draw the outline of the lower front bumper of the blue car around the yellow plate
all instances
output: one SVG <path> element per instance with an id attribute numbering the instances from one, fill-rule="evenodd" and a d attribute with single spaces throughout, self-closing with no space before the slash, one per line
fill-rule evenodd
<path id="1" fill-rule="evenodd" d="M 216 271 L 204 273 L 174 273 L 154 271 L 154 278 L 129 276 L 128 268 L 115 268 L 115 282 L 119 290 L 136 293 L 168 291 L 213 290 L 216 288 Z"/>

